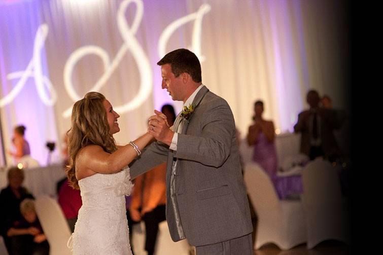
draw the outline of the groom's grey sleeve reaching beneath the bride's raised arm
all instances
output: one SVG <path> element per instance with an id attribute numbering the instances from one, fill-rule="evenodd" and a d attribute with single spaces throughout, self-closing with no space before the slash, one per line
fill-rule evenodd
<path id="1" fill-rule="evenodd" d="M 129 164 L 131 179 L 141 175 L 153 167 L 166 162 L 169 149 L 166 144 L 155 141 L 142 151 L 140 157 Z"/>

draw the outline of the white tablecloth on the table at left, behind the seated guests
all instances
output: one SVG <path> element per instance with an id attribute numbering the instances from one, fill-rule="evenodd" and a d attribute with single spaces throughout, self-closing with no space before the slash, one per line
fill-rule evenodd
<path id="1" fill-rule="evenodd" d="M 8 170 L 0 170 L 0 189 L 8 186 Z M 57 181 L 65 177 L 62 164 L 52 164 L 46 167 L 34 167 L 24 169 L 24 183 L 22 186 L 34 196 L 49 195 L 56 197 Z"/>

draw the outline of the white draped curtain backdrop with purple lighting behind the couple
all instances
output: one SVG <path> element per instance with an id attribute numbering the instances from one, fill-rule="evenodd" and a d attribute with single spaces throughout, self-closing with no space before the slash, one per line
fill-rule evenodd
<path id="1" fill-rule="evenodd" d="M 200 58 L 203 84 L 228 101 L 242 136 L 257 99 L 266 119 L 291 131 L 308 89 L 348 103 L 346 14 L 329 0 L 0 0 L 2 147 L 24 124 L 44 165 L 45 143 L 59 149 L 70 126 L 64 113 L 96 84 L 121 115 L 117 142 L 134 139 L 154 108 L 180 110 L 156 65 L 177 48 Z"/>

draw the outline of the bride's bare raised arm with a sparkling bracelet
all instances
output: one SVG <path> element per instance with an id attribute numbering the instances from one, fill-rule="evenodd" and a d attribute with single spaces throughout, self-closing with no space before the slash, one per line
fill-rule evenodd
<path id="1" fill-rule="evenodd" d="M 149 133 L 137 138 L 133 142 L 138 150 L 142 150 L 152 140 Z M 76 159 L 77 170 L 88 169 L 97 173 L 115 173 L 127 166 L 137 157 L 137 152 L 130 144 L 119 147 L 113 153 L 107 153 L 98 145 L 88 145 L 83 148 Z"/>

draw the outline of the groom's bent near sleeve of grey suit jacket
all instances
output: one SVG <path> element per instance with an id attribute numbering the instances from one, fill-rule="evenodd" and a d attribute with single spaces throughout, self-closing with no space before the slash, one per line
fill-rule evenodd
<path id="1" fill-rule="evenodd" d="M 201 136 L 178 135 L 175 157 L 207 166 L 223 165 L 230 155 L 235 124 L 229 105 L 222 101 L 203 113 Z"/>

